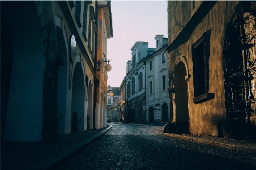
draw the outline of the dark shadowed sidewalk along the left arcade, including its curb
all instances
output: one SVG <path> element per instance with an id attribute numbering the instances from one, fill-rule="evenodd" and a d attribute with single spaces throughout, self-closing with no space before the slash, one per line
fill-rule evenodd
<path id="1" fill-rule="evenodd" d="M 60 135 L 58 143 L 3 142 L 1 143 L 1 169 L 52 169 L 90 145 L 112 128 Z"/>

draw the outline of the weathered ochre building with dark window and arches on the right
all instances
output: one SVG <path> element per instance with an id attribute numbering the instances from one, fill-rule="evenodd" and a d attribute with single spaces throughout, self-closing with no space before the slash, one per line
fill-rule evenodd
<path id="1" fill-rule="evenodd" d="M 255 135 L 255 15 L 253 1 L 168 1 L 173 131 Z"/>

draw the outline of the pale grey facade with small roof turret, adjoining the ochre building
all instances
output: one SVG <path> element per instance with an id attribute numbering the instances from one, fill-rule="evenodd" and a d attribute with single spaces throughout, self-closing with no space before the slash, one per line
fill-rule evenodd
<path id="1" fill-rule="evenodd" d="M 168 93 L 168 62 L 165 49 L 168 39 L 157 35 L 156 49 L 145 58 L 145 100 L 147 123 L 168 123 L 170 119 L 170 102 Z"/>

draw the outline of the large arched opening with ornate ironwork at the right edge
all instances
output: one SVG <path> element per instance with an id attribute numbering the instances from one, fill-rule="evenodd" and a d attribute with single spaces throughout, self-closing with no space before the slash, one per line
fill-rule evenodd
<path id="1" fill-rule="evenodd" d="M 246 138 L 246 122 L 250 126 L 251 119 L 256 120 L 255 3 L 239 2 L 235 12 L 225 35 L 223 71 L 230 137 L 242 139 Z"/>

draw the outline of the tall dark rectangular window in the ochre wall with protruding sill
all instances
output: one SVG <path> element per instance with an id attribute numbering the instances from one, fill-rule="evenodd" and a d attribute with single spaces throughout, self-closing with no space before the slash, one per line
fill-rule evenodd
<path id="1" fill-rule="evenodd" d="M 208 92 L 207 68 L 206 68 L 206 40 L 205 34 L 192 45 L 194 97 Z M 196 100 L 194 100 L 196 101 Z"/>

